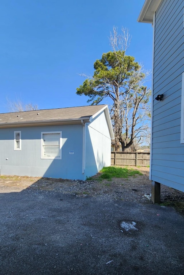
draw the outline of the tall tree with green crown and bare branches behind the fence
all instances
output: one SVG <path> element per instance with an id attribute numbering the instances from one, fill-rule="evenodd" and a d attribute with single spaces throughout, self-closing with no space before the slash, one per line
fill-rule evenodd
<path id="1" fill-rule="evenodd" d="M 134 141 L 141 142 L 147 135 L 150 120 L 150 89 L 147 81 L 150 71 L 135 62 L 135 58 L 126 55 L 130 38 L 128 31 L 122 28 L 118 35 L 116 28 L 110 35 L 112 51 L 104 53 L 94 63 L 93 76 L 77 88 L 78 95 L 87 95 L 91 104 L 98 104 L 110 98 L 110 115 L 115 135 L 115 150 L 126 151 Z M 123 135 L 123 133 L 125 133 Z"/>

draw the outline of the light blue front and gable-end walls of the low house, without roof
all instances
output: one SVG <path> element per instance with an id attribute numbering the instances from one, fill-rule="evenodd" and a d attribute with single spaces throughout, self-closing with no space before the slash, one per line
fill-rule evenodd
<path id="1" fill-rule="evenodd" d="M 14 131 L 21 131 L 21 151 L 14 151 Z M 61 159 L 41 158 L 41 132 L 57 131 L 62 132 Z M 111 138 L 104 111 L 85 126 L 79 122 L 0 128 L 0 174 L 85 180 L 110 166 L 110 161 Z"/>

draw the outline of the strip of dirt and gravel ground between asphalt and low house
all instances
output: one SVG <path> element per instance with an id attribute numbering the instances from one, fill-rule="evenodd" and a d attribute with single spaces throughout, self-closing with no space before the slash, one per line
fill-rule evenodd
<path id="1" fill-rule="evenodd" d="M 123 166 L 122 166 L 123 167 Z M 142 175 L 129 178 L 113 178 L 112 181 L 98 180 L 100 173 L 91 180 L 67 180 L 27 176 L 0 176 L 1 193 L 20 192 L 24 189 L 59 192 L 76 197 L 110 197 L 123 201 L 152 204 L 144 194 L 151 193 L 148 167 L 129 167 L 139 170 Z M 161 185 L 161 203 L 174 207 L 184 215 L 184 193 Z"/>

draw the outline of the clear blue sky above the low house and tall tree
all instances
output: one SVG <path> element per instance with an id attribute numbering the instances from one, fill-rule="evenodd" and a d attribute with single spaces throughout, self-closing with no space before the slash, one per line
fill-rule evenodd
<path id="1" fill-rule="evenodd" d="M 152 26 L 138 23 L 144 0 L 8 0 L 0 10 L 0 113 L 7 98 L 39 109 L 87 105 L 76 88 L 111 50 L 113 26 L 132 36 L 127 54 L 152 69 Z M 106 102 L 103 102 L 106 103 Z"/>

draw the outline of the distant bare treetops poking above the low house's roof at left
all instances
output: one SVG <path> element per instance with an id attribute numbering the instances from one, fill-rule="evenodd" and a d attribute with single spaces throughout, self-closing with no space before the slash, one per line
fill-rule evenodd
<path id="1" fill-rule="evenodd" d="M 31 103 L 23 103 L 21 100 L 17 99 L 16 101 L 10 101 L 7 98 L 7 106 L 10 112 L 22 112 L 22 111 L 34 111 L 38 110 L 38 105 L 33 105 Z"/>

